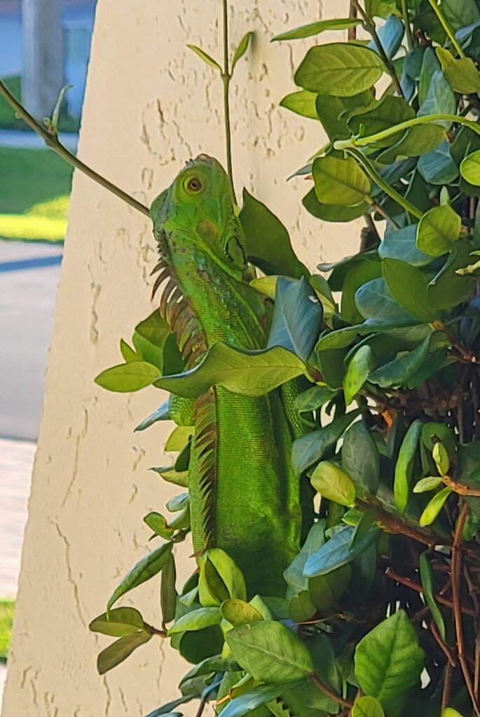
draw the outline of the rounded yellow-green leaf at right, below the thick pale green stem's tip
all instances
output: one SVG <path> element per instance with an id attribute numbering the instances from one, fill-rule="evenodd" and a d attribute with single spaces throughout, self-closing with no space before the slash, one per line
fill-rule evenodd
<path id="1" fill-rule="evenodd" d="M 440 257 L 451 250 L 460 229 L 461 217 L 451 206 L 434 206 L 418 223 L 417 247 L 431 257 Z"/>

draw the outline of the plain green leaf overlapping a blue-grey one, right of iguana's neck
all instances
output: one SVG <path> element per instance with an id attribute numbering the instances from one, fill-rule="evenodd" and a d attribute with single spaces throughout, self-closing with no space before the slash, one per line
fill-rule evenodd
<path id="1" fill-rule="evenodd" d="M 392 297 L 424 323 L 436 318 L 428 303 L 428 278 L 419 269 L 398 259 L 384 259 L 382 272 Z"/>

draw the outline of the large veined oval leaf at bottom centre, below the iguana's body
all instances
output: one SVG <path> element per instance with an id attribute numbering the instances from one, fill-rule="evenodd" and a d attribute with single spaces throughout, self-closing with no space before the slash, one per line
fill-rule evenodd
<path id="1" fill-rule="evenodd" d="M 239 625 L 227 632 L 225 640 L 237 663 L 255 680 L 288 682 L 313 672 L 309 650 L 281 622 Z"/>

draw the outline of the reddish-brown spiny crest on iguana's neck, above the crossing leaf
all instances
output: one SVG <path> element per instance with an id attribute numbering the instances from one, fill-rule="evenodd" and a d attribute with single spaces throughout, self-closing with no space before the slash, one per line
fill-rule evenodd
<path id="1" fill-rule="evenodd" d="M 207 341 L 204 331 L 182 290 L 179 288 L 177 277 L 175 277 L 164 257 L 161 257 L 151 275 L 156 274 L 156 272 L 160 273 L 156 277 L 151 298 L 154 298 L 159 288 L 163 285 L 159 312 L 161 317 L 168 323 L 171 331 L 177 336 L 177 345 L 179 350 L 182 351 L 182 359 L 187 359 L 186 367 L 191 369 L 207 353 Z"/>

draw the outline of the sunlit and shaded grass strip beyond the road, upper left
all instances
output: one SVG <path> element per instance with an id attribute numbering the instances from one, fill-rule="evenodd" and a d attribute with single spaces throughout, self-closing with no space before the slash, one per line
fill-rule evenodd
<path id="1" fill-rule="evenodd" d="M 0 147 L 0 237 L 63 239 L 71 182 L 51 150 Z"/>

